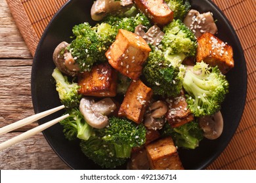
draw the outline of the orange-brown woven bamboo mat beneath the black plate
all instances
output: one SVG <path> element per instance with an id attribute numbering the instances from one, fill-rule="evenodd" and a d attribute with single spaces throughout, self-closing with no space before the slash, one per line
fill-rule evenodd
<path id="1" fill-rule="evenodd" d="M 43 30 L 68 0 L 7 0 L 12 16 L 32 55 Z M 247 63 L 247 99 L 232 141 L 207 169 L 256 169 L 256 0 L 213 0 L 234 26 Z"/>

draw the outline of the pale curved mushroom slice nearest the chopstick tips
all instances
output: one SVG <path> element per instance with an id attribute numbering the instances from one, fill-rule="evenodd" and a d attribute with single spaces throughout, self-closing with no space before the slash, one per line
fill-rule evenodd
<path id="1" fill-rule="evenodd" d="M 83 114 L 87 124 L 97 129 L 102 129 L 108 125 L 108 117 L 104 116 L 100 112 L 93 110 L 93 103 L 93 99 L 83 97 L 80 101 L 79 110 L 81 114 Z"/>

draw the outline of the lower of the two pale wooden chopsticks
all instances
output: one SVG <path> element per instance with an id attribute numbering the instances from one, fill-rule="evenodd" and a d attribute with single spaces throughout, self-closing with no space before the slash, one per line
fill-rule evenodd
<path id="1" fill-rule="evenodd" d="M 67 118 L 68 116 L 70 116 L 69 114 L 65 114 L 64 116 L 60 116 L 59 118 L 56 118 L 54 120 L 51 120 L 50 122 L 47 122 L 45 124 L 39 125 L 33 129 L 30 129 L 16 137 L 13 137 L 12 139 L 5 141 L 3 143 L 0 144 L 0 151 L 4 150 L 6 148 L 9 148 L 9 146 L 12 146 L 13 144 L 16 144 L 20 141 L 23 141 L 25 139 L 28 139 L 30 137 L 32 137 L 33 135 L 43 131 L 44 129 L 47 129 L 48 127 L 51 127 L 52 125 L 60 122 L 61 120 L 64 120 L 65 118 Z"/>

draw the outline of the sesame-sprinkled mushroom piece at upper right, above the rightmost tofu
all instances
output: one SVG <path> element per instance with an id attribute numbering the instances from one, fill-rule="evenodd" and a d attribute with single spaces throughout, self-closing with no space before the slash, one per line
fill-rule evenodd
<path id="1" fill-rule="evenodd" d="M 197 10 L 192 9 L 188 12 L 183 22 L 195 33 L 196 38 L 205 32 L 215 34 L 218 31 L 211 12 L 200 14 Z"/>

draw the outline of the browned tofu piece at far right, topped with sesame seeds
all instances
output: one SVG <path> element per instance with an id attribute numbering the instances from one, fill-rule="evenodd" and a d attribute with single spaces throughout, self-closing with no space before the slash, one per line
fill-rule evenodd
<path id="1" fill-rule="evenodd" d="M 211 33 L 204 33 L 198 38 L 196 61 L 204 61 L 210 66 L 218 66 L 226 74 L 234 67 L 232 46 L 221 41 Z"/>

